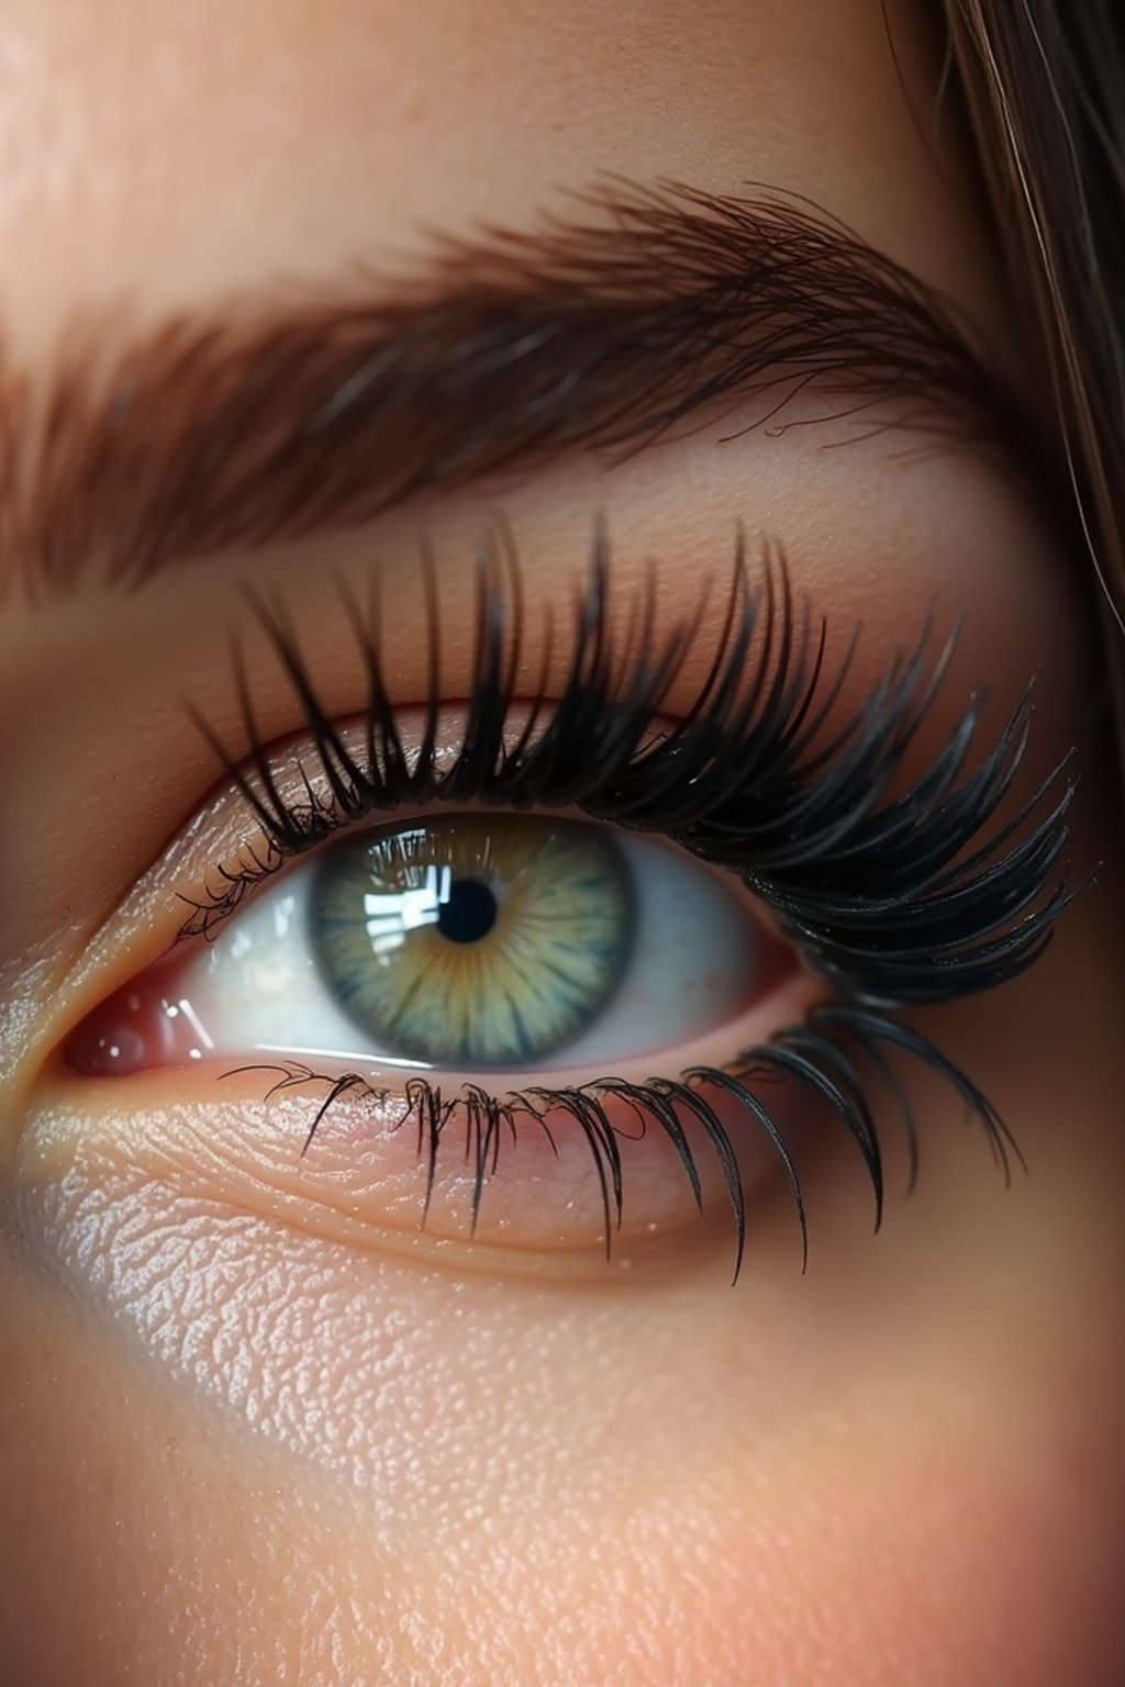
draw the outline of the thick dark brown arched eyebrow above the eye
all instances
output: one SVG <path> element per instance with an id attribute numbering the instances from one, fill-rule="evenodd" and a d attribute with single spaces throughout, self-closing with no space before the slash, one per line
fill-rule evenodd
<path id="1" fill-rule="evenodd" d="M 115 349 L 118 348 L 118 349 Z M 111 312 L 49 381 L 0 366 L 0 585 L 34 599 L 314 530 L 415 494 L 611 459 L 798 393 L 872 427 L 1010 430 L 966 326 L 810 206 L 609 182 L 516 231 L 433 236 L 423 273 L 275 290 L 121 348 Z"/>

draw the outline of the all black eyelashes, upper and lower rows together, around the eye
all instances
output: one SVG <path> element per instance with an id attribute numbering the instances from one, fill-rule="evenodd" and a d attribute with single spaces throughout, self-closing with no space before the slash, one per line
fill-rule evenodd
<path id="1" fill-rule="evenodd" d="M 454 1122 L 464 1125 L 466 1157 L 474 1167 L 476 1228 L 503 1139 L 514 1135 L 519 1120 L 546 1130 L 545 1115 L 563 1110 L 579 1124 L 594 1159 L 609 1253 L 624 1193 L 621 1154 L 604 1102 L 624 1102 L 641 1129 L 653 1124 L 665 1130 L 700 1205 L 698 1169 L 676 1117 L 676 1108 L 683 1108 L 700 1122 L 725 1179 L 737 1279 L 746 1247 L 746 1199 L 734 1144 L 703 1093 L 710 1086 L 734 1097 L 771 1139 L 793 1196 L 805 1269 L 808 1226 L 799 1178 L 771 1110 L 751 1085 L 789 1078 L 838 1113 L 867 1169 L 879 1228 L 882 1151 L 862 1063 L 882 1078 L 897 1107 L 909 1154 L 907 1188 L 918 1174 L 914 1117 L 891 1054 L 929 1066 L 953 1088 L 982 1124 L 1007 1179 L 1010 1156 L 1020 1164 L 1022 1159 L 992 1103 L 928 1038 L 892 1016 L 902 1007 L 992 989 L 1024 972 L 1074 894 L 1066 869 L 1059 869 L 1074 793 L 1074 781 L 1063 778 L 1066 764 L 980 842 L 1022 766 L 1029 698 L 966 774 L 983 707 L 983 695 L 973 693 L 926 771 L 889 795 L 934 705 L 956 629 L 931 658 L 928 621 L 914 649 L 899 653 L 852 719 L 826 736 L 859 634 L 826 680 L 826 626 L 813 623 L 808 604 L 794 609 L 784 555 L 764 552 L 761 587 L 754 589 L 739 536 L 712 666 L 688 712 L 665 727 L 661 710 L 705 604 L 690 623 L 658 639 L 649 582 L 624 641 L 617 641 L 609 614 L 609 542 L 599 525 L 587 585 L 575 604 L 567 671 L 553 695 L 546 682 L 550 628 L 540 685 L 530 700 L 516 690 L 525 604 L 513 548 L 499 545 L 481 553 L 469 698 L 457 752 L 444 757 L 439 734 L 449 705 L 440 695 L 440 606 L 432 567 L 425 565 L 423 579 L 428 690 L 418 747 L 403 742 L 385 683 L 374 596 L 364 621 L 354 597 L 341 587 L 368 678 L 361 754 L 346 747 L 320 707 L 285 614 L 251 599 L 300 702 L 314 774 L 326 790 L 314 790 L 302 766 L 302 796 L 293 801 L 282 793 L 236 646 L 234 683 L 248 742 L 243 761 L 229 756 L 202 715 L 192 714 L 253 810 L 261 845 L 245 850 L 234 867 L 218 867 L 218 882 L 199 899 L 186 899 L 191 914 L 180 936 L 213 936 L 263 877 L 342 827 L 393 813 L 405 803 L 570 806 L 595 820 L 659 832 L 702 860 L 734 872 L 772 909 L 784 935 L 835 997 L 815 1005 L 801 1026 L 781 1027 L 769 1043 L 740 1051 L 727 1066 L 688 1068 L 678 1080 L 599 1078 L 563 1088 L 531 1085 L 503 1097 L 462 1085 L 450 1097 L 430 1080 L 412 1078 L 403 1124 L 413 1122 L 418 1132 L 425 1208 L 439 1145 Z M 513 734 L 516 707 L 523 719 Z M 250 1068 L 240 1068 L 245 1070 Z M 293 1061 L 253 1070 L 280 1075 L 270 1097 L 304 1085 L 326 1088 L 305 1151 L 341 1097 L 383 1102 L 388 1095 L 358 1073 L 329 1076 Z"/>

